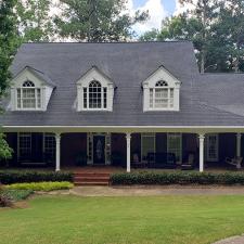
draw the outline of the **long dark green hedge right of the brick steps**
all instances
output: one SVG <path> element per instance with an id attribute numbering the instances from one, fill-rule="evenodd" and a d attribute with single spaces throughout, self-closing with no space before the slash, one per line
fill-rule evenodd
<path id="1" fill-rule="evenodd" d="M 244 185 L 244 172 L 130 172 L 113 174 L 112 185 L 131 184 L 219 184 L 219 185 Z"/>

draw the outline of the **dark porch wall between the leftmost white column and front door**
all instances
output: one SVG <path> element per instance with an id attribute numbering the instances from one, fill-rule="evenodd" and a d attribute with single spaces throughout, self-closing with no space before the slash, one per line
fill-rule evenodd
<path id="1" fill-rule="evenodd" d="M 61 166 L 75 166 L 76 157 L 87 153 L 87 133 L 64 133 L 61 138 Z"/>

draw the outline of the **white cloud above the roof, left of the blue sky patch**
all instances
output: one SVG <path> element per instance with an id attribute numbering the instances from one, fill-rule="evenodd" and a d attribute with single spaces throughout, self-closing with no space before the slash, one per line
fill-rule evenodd
<path id="1" fill-rule="evenodd" d="M 145 23 L 139 23 L 133 26 L 137 34 L 142 34 L 152 28 L 160 28 L 162 20 L 168 15 L 162 0 L 147 0 L 144 5 L 138 9 L 133 7 L 132 0 L 128 0 L 127 7 L 130 13 L 134 13 L 137 10 L 149 11 L 150 18 Z"/>

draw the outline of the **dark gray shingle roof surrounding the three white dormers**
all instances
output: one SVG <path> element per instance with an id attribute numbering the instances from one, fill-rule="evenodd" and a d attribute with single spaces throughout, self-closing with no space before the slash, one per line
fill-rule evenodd
<path id="1" fill-rule="evenodd" d="M 234 104 L 235 98 L 232 94 L 242 92 L 239 86 L 242 85 L 244 75 L 200 75 L 191 42 L 26 43 L 20 48 L 13 62 L 13 75 L 26 65 L 44 73 L 55 84 L 56 89 L 47 112 L 9 111 L 1 116 L 0 121 L 3 125 L 244 125 L 244 113 L 227 110 L 228 105 Z M 160 65 L 182 82 L 180 112 L 143 113 L 141 84 Z M 73 108 L 76 81 L 92 66 L 111 77 L 117 86 L 113 112 L 76 112 Z M 222 92 L 216 87 L 217 82 Z M 223 95 L 227 85 L 232 89 L 231 99 Z M 244 98 L 240 97 L 241 103 L 244 104 Z M 222 108 L 221 105 L 226 107 Z"/>

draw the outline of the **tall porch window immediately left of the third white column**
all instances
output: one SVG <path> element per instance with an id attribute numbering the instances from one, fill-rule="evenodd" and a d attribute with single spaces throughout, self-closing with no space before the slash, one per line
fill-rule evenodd
<path id="1" fill-rule="evenodd" d="M 181 133 L 167 134 L 168 153 L 174 153 L 177 162 L 182 160 L 182 137 Z"/>

